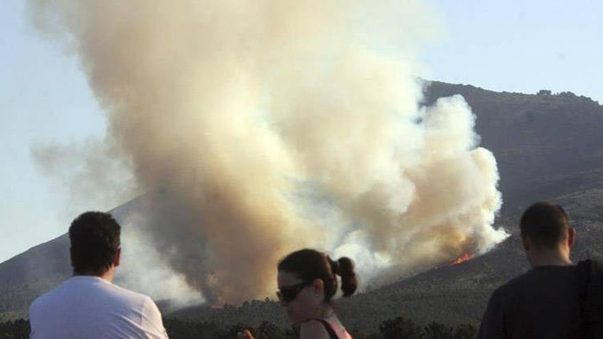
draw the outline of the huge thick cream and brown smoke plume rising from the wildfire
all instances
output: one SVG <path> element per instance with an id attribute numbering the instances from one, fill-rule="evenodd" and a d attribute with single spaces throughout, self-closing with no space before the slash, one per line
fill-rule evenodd
<path id="1" fill-rule="evenodd" d="M 31 0 L 151 192 L 145 223 L 211 302 L 271 295 L 299 247 L 364 279 L 481 253 L 501 197 L 462 97 L 421 108 L 420 1 Z"/>

